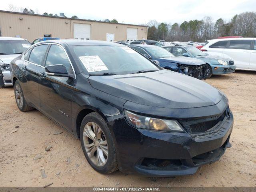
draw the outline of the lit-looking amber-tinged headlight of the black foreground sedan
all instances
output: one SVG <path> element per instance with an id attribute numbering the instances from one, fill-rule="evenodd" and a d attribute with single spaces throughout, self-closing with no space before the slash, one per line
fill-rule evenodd
<path id="1" fill-rule="evenodd" d="M 134 114 L 127 110 L 124 110 L 124 113 L 128 122 L 136 128 L 151 129 L 157 131 L 184 132 L 180 124 L 176 120 L 146 117 Z"/>

